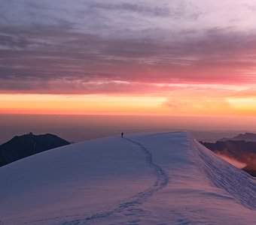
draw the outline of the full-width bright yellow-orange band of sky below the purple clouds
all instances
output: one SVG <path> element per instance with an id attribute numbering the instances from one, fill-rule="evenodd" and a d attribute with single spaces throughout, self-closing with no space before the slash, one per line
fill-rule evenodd
<path id="1" fill-rule="evenodd" d="M 256 115 L 256 98 L 202 93 L 177 95 L 2 94 L 0 114 L 59 115 Z"/>

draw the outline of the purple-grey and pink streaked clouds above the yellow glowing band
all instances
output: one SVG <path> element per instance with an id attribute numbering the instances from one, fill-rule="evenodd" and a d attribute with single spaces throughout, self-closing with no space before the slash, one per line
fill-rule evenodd
<path id="1" fill-rule="evenodd" d="M 242 0 L 4 0 L 0 92 L 169 95 L 175 84 L 207 83 L 251 89 L 255 7 Z"/>

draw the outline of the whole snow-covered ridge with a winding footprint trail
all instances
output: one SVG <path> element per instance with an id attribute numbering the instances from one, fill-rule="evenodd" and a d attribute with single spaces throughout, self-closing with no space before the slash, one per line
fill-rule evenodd
<path id="1" fill-rule="evenodd" d="M 185 132 L 55 148 L 0 180 L 0 224 L 256 224 L 256 179 Z"/>

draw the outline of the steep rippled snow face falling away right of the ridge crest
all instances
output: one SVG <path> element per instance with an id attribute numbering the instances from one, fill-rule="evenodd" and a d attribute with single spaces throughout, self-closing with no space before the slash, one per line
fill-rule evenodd
<path id="1" fill-rule="evenodd" d="M 216 187 L 226 190 L 245 207 L 256 210 L 256 179 L 230 166 L 216 154 L 209 151 L 195 139 L 191 139 L 191 151 L 195 151 L 197 160 L 206 176 Z"/>

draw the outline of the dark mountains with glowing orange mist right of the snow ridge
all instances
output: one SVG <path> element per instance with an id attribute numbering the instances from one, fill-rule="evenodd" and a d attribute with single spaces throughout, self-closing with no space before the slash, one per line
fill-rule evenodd
<path id="1" fill-rule="evenodd" d="M 201 142 L 220 157 L 243 163 L 242 170 L 256 176 L 256 134 L 240 133 L 233 138 L 222 138 L 217 142 Z"/>

